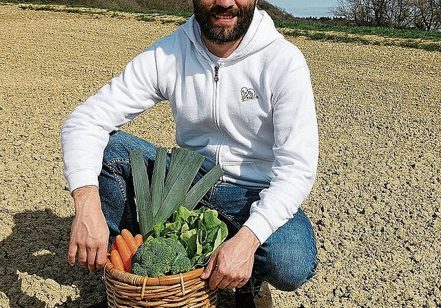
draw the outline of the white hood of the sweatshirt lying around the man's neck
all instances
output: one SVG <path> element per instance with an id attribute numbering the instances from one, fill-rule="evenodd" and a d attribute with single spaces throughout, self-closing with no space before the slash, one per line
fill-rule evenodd
<path id="1" fill-rule="evenodd" d="M 208 60 L 209 56 L 202 41 L 201 28 L 199 28 L 194 15 L 182 26 L 182 30 L 192 41 L 196 50 Z M 255 8 L 254 17 L 247 33 L 243 36 L 236 50 L 225 58 L 225 61 L 236 60 L 247 54 L 252 54 L 280 38 L 283 38 L 283 35 L 277 32 L 274 21 L 267 12 Z"/>

